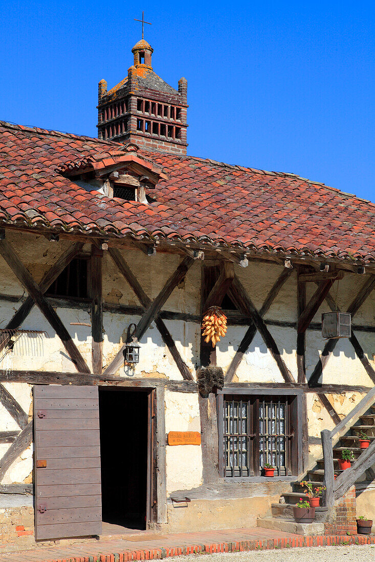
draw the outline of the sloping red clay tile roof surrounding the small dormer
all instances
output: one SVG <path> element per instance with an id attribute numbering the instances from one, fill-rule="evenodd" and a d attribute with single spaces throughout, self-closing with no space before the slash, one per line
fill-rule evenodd
<path id="1" fill-rule="evenodd" d="M 162 171 L 150 205 L 87 192 L 68 177 L 72 167 L 129 155 Z M 0 226 L 10 224 L 375 261 L 375 205 L 322 183 L 0 121 Z"/>

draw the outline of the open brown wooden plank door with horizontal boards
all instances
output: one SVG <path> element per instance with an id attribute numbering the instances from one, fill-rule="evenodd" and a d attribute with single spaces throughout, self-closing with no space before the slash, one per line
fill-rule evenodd
<path id="1" fill-rule="evenodd" d="M 34 386 L 35 538 L 101 533 L 96 386 Z"/>

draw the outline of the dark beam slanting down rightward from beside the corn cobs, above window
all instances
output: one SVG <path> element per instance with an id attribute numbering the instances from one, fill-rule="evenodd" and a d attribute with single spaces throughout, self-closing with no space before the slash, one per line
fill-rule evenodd
<path id="1" fill-rule="evenodd" d="M 251 298 L 248 297 L 238 277 L 234 278 L 233 283 L 229 288 L 229 296 L 243 314 L 249 314 L 252 317 L 253 323 L 256 325 L 259 333 L 263 338 L 263 341 L 265 342 L 271 355 L 274 357 L 285 382 L 295 382 L 291 371 L 289 371 L 284 363 L 284 360 L 282 359 L 282 356 L 280 355 L 278 346 L 276 345 L 274 338 L 271 336 L 271 333 L 266 327 L 264 320 L 257 311 L 256 307 L 253 305 Z"/>

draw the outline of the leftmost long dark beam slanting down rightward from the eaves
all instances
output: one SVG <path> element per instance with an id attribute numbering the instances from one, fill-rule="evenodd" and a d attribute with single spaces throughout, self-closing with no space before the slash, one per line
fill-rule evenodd
<path id="1" fill-rule="evenodd" d="M 0 253 L 7 262 L 8 266 L 10 266 L 11 270 L 15 273 L 17 279 L 19 279 L 20 283 L 24 285 L 30 297 L 32 297 L 33 301 L 38 306 L 38 309 L 41 310 L 42 314 L 51 324 L 57 336 L 61 339 L 61 342 L 63 342 L 66 352 L 68 353 L 70 359 L 72 359 L 75 368 L 78 371 L 90 373 L 90 369 L 86 365 L 86 361 L 84 361 L 77 346 L 73 342 L 73 339 L 70 337 L 68 330 L 56 314 L 56 311 L 52 308 L 50 303 L 48 303 L 41 289 L 39 289 L 37 283 L 35 283 L 32 275 L 30 275 L 29 271 L 22 264 L 19 257 L 16 255 L 14 250 L 12 250 L 12 247 L 6 240 L 0 240 Z"/>

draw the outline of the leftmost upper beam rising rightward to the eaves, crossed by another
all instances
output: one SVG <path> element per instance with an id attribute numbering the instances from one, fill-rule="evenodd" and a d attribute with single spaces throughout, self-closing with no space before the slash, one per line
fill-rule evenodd
<path id="1" fill-rule="evenodd" d="M 80 252 L 83 248 L 83 242 L 74 242 L 65 252 L 59 257 L 52 268 L 47 271 L 44 275 L 41 283 L 39 283 L 39 289 L 44 294 L 49 287 L 51 287 L 52 283 L 59 277 L 60 273 L 66 268 L 68 264 L 77 256 L 78 252 Z M 30 314 L 33 309 L 35 302 L 30 297 L 26 297 L 25 301 L 21 304 L 17 312 L 14 314 L 13 318 L 8 322 L 6 325 L 6 329 L 17 329 L 25 320 L 26 316 Z M 7 338 L 3 338 L 2 342 L 0 342 L 0 351 L 8 343 Z"/>

